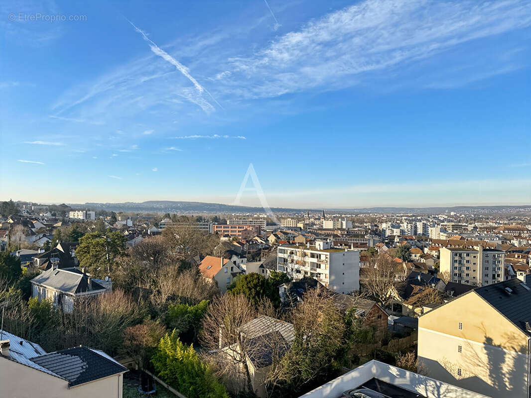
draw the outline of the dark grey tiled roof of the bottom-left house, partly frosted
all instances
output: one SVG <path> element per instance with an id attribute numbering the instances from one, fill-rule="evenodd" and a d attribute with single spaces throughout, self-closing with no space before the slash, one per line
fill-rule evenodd
<path id="1" fill-rule="evenodd" d="M 69 387 L 127 371 L 104 352 L 82 346 L 40 355 L 31 361 L 67 380 Z"/>

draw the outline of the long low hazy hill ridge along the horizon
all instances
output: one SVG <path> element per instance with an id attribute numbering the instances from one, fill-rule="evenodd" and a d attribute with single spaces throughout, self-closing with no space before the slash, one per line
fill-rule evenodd
<path id="1" fill-rule="evenodd" d="M 263 213 L 262 207 L 237 206 L 221 203 L 182 202 L 182 201 L 147 201 L 124 203 L 84 203 L 68 204 L 75 208 L 89 207 L 92 210 L 124 211 L 124 212 L 160 212 L 160 213 Z M 289 207 L 273 207 L 275 213 L 321 212 L 322 209 L 294 209 Z M 531 213 L 531 205 L 522 206 L 453 206 L 453 207 L 367 207 L 367 208 L 328 208 L 333 213 L 413 213 L 441 214 L 456 213 Z"/>

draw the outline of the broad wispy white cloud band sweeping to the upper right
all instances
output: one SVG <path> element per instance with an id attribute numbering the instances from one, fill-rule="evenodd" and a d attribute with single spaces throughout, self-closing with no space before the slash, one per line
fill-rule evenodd
<path id="1" fill-rule="evenodd" d="M 231 58 L 233 76 L 239 72 L 251 83 L 234 92 L 263 98 L 315 87 L 342 89 L 367 73 L 418 64 L 451 47 L 530 24 L 531 3 L 518 0 L 364 1 L 311 21 L 251 56 Z"/>

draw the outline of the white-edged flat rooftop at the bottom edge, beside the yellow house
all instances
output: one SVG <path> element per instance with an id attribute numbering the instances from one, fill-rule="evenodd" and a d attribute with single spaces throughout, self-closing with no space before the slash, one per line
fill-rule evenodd
<path id="1" fill-rule="evenodd" d="M 357 388 L 366 389 L 366 394 L 359 395 L 360 397 L 488 398 L 485 395 L 384 364 L 375 359 L 330 380 L 299 398 L 340 398 L 344 396 L 342 393 Z"/>

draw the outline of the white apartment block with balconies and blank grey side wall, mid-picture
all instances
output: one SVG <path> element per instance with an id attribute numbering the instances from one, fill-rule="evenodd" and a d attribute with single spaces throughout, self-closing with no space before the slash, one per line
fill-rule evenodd
<path id="1" fill-rule="evenodd" d="M 277 271 L 295 280 L 312 276 L 332 291 L 349 293 L 359 289 L 359 251 L 335 248 L 328 241 L 279 246 Z"/>

